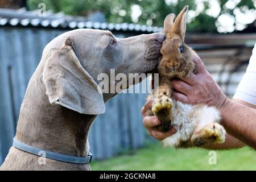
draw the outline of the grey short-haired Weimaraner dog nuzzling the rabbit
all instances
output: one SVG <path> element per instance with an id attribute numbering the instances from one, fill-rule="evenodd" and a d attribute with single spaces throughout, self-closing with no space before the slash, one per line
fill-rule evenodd
<path id="1" fill-rule="evenodd" d="M 79 29 L 53 39 L 28 83 L 15 139 L 28 146 L 78 157 L 89 152 L 88 133 L 105 102 L 97 76 L 146 73 L 158 64 L 162 33 L 117 39 L 109 31 Z M 114 83 L 116 84 L 116 83 Z M 90 170 L 89 164 L 46 159 L 11 147 L 1 170 Z"/>

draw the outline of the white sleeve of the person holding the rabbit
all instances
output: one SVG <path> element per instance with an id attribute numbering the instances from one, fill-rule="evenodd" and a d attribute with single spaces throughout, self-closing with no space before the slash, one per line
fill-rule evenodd
<path id="1" fill-rule="evenodd" d="M 233 98 L 256 105 L 256 43 L 246 73 L 243 75 Z"/>

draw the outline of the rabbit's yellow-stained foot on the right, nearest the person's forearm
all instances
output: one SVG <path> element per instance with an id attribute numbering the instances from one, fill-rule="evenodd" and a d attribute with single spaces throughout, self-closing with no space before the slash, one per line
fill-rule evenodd
<path id="1" fill-rule="evenodd" d="M 191 140 L 194 146 L 199 147 L 208 143 L 223 143 L 225 142 L 225 135 L 226 131 L 223 126 L 218 123 L 210 123 Z"/>

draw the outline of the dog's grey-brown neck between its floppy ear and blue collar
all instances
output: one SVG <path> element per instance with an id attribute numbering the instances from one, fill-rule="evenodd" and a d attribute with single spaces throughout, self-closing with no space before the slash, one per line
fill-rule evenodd
<path id="1" fill-rule="evenodd" d="M 42 78 L 32 77 L 20 108 L 15 138 L 43 150 L 86 156 L 95 117 L 50 104 Z"/>

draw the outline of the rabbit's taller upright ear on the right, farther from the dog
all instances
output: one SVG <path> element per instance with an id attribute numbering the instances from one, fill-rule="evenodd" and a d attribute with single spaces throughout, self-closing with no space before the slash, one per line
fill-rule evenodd
<path id="1" fill-rule="evenodd" d="M 184 41 L 185 31 L 186 31 L 186 13 L 188 6 L 185 6 L 183 10 L 180 11 L 179 15 L 175 19 L 174 26 L 172 26 L 172 33 L 180 35 Z"/>

